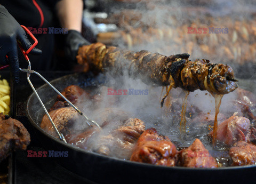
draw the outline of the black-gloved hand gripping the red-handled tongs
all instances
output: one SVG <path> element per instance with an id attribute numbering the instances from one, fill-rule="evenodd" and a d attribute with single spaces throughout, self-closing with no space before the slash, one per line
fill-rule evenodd
<path id="1" fill-rule="evenodd" d="M 28 50 L 31 43 L 25 30 L 12 17 L 12 15 L 0 5 L 0 65 L 10 65 L 15 82 L 19 82 L 19 61 L 17 41 L 23 49 Z M 42 51 L 34 48 L 31 54 L 42 54 Z M 8 59 L 6 59 L 6 55 Z"/>

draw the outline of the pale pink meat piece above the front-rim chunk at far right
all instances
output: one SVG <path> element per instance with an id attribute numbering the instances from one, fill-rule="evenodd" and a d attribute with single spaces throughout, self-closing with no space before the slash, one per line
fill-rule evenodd
<path id="1" fill-rule="evenodd" d="M 218 126 L 217 140 L 228 146 L 233 145 L 236 141 L 249 141 L 250 124 L 249 119 L 234 114 Z M 210 132 L 210 136 L 213 136 L 213 131 Z"/>

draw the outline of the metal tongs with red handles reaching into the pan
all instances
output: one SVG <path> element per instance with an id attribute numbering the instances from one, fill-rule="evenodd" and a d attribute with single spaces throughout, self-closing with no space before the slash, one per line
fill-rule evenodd
<path id="1" fill-rule="evenodd" d="M 55 126 L 54 122 L 52 121 L 52 118 L 50 117 L 49 113 L 47 112 L 47 110 L 46 110 L 46 108 L 45 108 L 45 106 L 44 106 L 44 103 L 43 103 L 42 100 L 40 99 L 39 95 L 37 94 L 37 92 L 36 92 L 36 90 L 35 90 L 35 87 L 34 87 L 33 84 L 31 83 L 31 81 L 30 81 L 30 79 L 29 79 L 30 74 L 36 74 L 36 75 L 38 75 L 40 78 L 43 79 L 44 82 L 46 82 L 47 84 L 49 84 L 50 87 L 52 87 L 52 89 L 53 89 L 55 92 L 57 92 L 63 99 L 65 99 L 65 100 L 69 103 L 70 106 L 72 106 L 80 115 L 84 116 L 84 118 L 86 119 L 86 123 L 87 123 L 89 126 L 92 126 L 90 123 L 93 123 L 94 125 L 98 126 L 99 129 L 101 130 L 101 127 L 99 126 L 98 123 L 92 121 L 92 120 L 89 119 L 87 116 L 85 116 L 85 115 L 82 113 L 81 110 L 77 109 L 77 107 L 75 107 L 75 106 L 73 105 L 73 103 L 71 103 L 71 102 L 70 102 L 66 97 L 64 97 L 57 89 L 55 89 L 55 87 L 54 87 L 51 83 L 49 83 L 48 81 L 46 81 L 46 79 L 45 79 L 42 75 L 40 75 L 39 73 L 37 73 L 37 72 L 34 71 L 34 70 L 31 70 L 31 65 L 30 65 L 30 61 L 29 61 L 29 58 L 28 58 L 28 55 L 27 55 L 27 54 L 37 45 L 38 41 L 37 41 L 37 39 L 35 38 L 35 36 L 28 30 L 28 28 L 26 28 L 25 26 L 21 26 L 21 27 L 28 33 L 28 35 L 35 41 L 35 43 L 34 43 L 31 47 L 29 47 L 29 49 L 28 49 L 27 51 L 25 51 L 25 50 L 23 49 L 23 47 L 21 46 L 21 44 L 18 42 L 18 45 L 19 45 L 19 47 L 20 47 L 20 50 L 21 50 L 21 52 L 23 53 L 24 57 L 26 58 L 26 60 L 27 60 L 27 62 L 28 62 L 28 69 L 21 69 L 21 68 L 20 68 L 20 70 L 27 73 L 28 83 L 29 83 L 29 85 L 31 86 L 31 88 L 32 88 L 32 90 L 34 91 L 34 93 L 36 94 L 37 99 L 38 99 L 39 102 L 41 103 L 41 105 L 42 105 L 42 107 L 43 107 L 43 109 L 44 109 L 46 115 L 48 116 L 50 122 L 52 123 L 52 126 L 54 127 L 54 130 L 55 130 L 55 132 L 58 134 L 60 140 L 62 140 L 62 141 L 64 141 L 65 143 L 67 143 L 67 141 L 66 141 L 65 137 L 63 136 L 63 134 L 60 133 L 60 132 L 58 131 L 57 127 Z M 7 56 L 6 56 L 6 57 L 7 57 Z M 6 68 L 6 67 L 8 67 L 8 66 L 9 66 L 9 65 L 5 65 L 5 66 L 3 66 L 3 67 L 0 67 L 0 69 Z"/>

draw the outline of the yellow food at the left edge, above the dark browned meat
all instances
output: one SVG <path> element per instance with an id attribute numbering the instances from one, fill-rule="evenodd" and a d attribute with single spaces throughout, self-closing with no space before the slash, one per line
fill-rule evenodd
<path id="1" fill-rule="evenodd" d="M 10 85 L 6 79 L 0 79 L 0 113 L 5 115 L 10 113 L 10 91 Z"/>

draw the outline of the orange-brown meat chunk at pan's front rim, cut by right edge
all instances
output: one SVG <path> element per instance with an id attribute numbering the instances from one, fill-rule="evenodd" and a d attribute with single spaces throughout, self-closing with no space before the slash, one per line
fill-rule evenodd
<path id="1" fill-rule="evenodd" d="M 256 146 L 244 141 L 238 141 L 229 150 L 233 166 L 256 164 Z"/>

